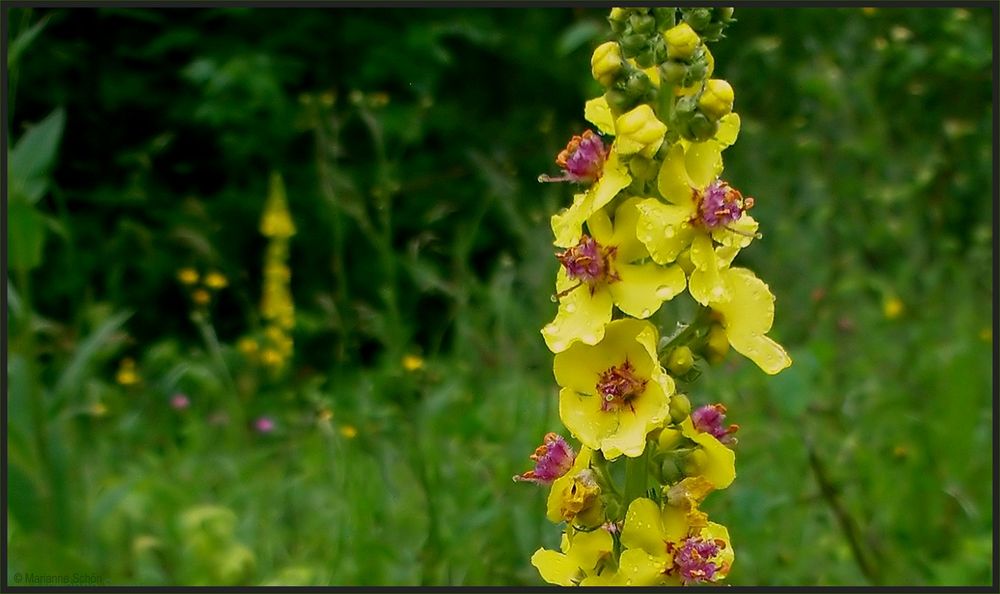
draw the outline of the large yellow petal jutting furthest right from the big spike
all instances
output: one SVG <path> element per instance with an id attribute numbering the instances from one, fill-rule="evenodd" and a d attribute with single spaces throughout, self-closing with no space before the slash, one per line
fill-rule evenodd
<path id="1" fill-rule="evenodd" d="M 791 365 L 785 349 L 765 336 L 774 323 L 774 295 L 767 284 L 745 268 L 728 268 L 722 274 L 730 298 L 709 306 L 722 316 L 729 344 L 765 373 L 774 375 Z"/>

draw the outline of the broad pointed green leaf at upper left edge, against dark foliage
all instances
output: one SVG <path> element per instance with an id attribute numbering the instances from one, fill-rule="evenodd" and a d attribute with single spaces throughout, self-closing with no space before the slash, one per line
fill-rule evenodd
<path id="1" fill-rule="evenodd" d="M 11 198 L 21 197 L 34 204 L 45 194 L 65 124 L 66 111 L 57 108 L 17 141 L 8 161 Z"/>

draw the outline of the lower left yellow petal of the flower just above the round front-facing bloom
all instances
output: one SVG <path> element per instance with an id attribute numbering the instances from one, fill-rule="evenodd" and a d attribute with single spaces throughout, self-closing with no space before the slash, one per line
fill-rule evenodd
<path id="1" fill-rule="evenodd" d="M 557 291 L 565 291 L 578 282 L 570 280 L 565 268 L 559 268 Z M 611 321 L 612 301 L 611 291 L 604 285 L 591 291 L 583 284 L 569 291 L 560 298 L 555 319 L 542 328 L 545 345 L 553 353 L 561 353 L 578 340 L 597 344 L 604 338 L 605 325 Z"/>

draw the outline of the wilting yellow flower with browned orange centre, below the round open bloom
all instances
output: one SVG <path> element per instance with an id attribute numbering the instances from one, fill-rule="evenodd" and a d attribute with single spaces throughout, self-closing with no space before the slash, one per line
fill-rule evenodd
<path id="1" fill-rule="evenodd" d="M 601 504 L 601 488 L 590 470 L 593 450 L 580 448 L 573 466 L 552 482 L 545 503 L 545 516 L 551 522 L 592 527 L 604 522 L 604 507 Z"/>

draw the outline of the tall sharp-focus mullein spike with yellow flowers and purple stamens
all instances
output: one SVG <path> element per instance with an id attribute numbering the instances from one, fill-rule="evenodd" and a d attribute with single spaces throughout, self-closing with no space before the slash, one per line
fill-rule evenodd
<path id="1" fill-rule="evenodd" d="M 700 505 L 736 478 L 739 425 L 721 403 L 692 406 L 689 384 L 730 346 L 769 374 L 791 364 L 766 336 L 774 295 L 732 266 L 761 237 L 754 198 L 721 177 L 740 118 L 707 44 L 733 20 L 732 8 L 612 9 L 613 39 L 590 62 L 605 92 L 584 108 L 600 135 L 572 137 L 562 173 L 539 177 L 582 187 L 551 220 L 558 309 L 542 329 L 580 446 L 548 433 L 514 476 L 548 488 L 546 516 L 563 526 L 559 550 L 531 558 L 549 583 L 713 584 L 733 568 L 729 531 Z M 698 314 L 661 340 L 650 320 L 685 289 Z"/>

